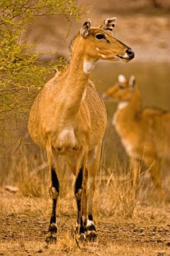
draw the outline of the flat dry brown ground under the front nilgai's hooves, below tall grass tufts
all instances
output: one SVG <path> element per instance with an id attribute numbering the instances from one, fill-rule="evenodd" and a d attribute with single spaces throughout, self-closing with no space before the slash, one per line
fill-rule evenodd
<path id="1" fill-rule="evenodd" d="M 58 241 L 46 245 L 50 200 L 5 191 L 0 197 L 0 255 L 170 255 L 170 204 L 140 205 L 131 218 L 95 210 L 97 241 L 77 244 L 75 207 L 60 200 Z"/>

